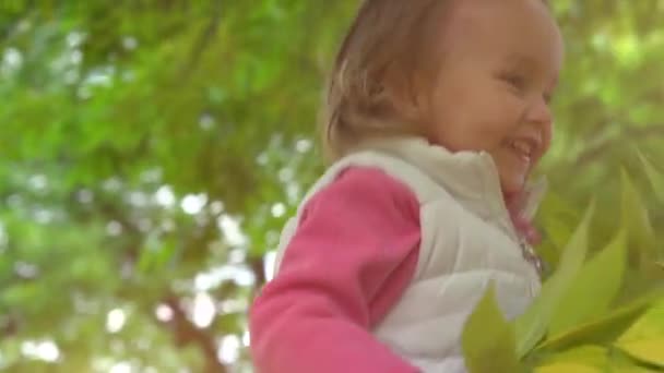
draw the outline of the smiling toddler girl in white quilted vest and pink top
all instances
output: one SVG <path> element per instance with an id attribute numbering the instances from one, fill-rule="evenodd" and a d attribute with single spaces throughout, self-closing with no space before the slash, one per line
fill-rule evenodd
<path id="1" fill-rule="evenodd" d="M 336 59 L 331 167 L 286 225 L 250 313 L 259 373 L 465 372 L 489 284 L 540 289 L 527 182 L 562 40 L 542 0 L 367 0 Z"/>

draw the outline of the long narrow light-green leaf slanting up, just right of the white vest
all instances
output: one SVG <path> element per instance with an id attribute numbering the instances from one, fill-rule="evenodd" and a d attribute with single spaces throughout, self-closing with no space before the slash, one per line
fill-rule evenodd
<path id="1" fill-rule="evenodd" d="M 523 358 L 534 346 L 542 340 L 549 327 L 557 304 L 562 299 L 579 269 L 583 265 L 588 251 L 588 232 L 595 210 L 593 201 L 585 215 L 572 234 L 560 264 L 554 275 L 542 286 L 542 291 L 524 314 L 517 317 L 517 354 Z"/>

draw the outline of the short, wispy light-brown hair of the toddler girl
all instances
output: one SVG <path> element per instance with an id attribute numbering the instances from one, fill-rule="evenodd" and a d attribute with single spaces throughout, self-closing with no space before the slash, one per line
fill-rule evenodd
<path id="1" fill-rule="evenodd" d="M 443 3 L 448 1 L 363 2 L 328 82 L 321 130 L 329 160 L 370 137 L 418 132 L 405 107 L 426 83 L 422 77 L 437 67 L 432 21 Z"/>

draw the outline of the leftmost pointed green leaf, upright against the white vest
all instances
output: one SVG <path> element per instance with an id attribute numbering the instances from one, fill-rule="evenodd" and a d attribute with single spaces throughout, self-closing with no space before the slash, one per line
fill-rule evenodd
<path id="1" fill-rule="evenodd" d="M 515 353 L 513 326 L 498 308 L 493 282 L 466 321 L 462 348 L 471 373 L 522 370 Z"/>

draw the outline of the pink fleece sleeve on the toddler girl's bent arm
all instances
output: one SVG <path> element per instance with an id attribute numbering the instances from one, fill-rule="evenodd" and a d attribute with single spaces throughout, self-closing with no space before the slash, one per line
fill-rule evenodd
<path id="1" fill-rule="evenodd" d="M 347 170 L 317 193 L 251 308 L 257 372 L 417 372 L 370 329 L 411 281 L 419 234 L 414 194 L 380 170 Z"/>

